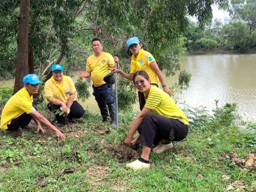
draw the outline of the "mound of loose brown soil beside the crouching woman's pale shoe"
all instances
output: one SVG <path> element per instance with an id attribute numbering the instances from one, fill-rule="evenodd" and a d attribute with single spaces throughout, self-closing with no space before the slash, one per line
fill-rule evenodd
<path id="1" fill-rule="evenodd" d="M 106 150 L 113 152 L 113 155 L 119 162 L 124 163 L 130 160 L 138 159 L 141 155 L 141 148 L 138 150 L 126 146 L 107 145 Z"/>

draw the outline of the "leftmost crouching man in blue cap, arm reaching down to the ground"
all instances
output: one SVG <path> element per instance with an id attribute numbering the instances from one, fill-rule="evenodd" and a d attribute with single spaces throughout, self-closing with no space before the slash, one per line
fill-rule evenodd
<path id="1" fill-rule="evenodd" d="M 33 118 L 37 124 L 37 132 L 44 134 L 42 124 L 58 135 L 58 140 L 65 139 L 65 135 L 53 126 L 46 118 L 33 107 L 33 94 L 37 94 L 39 84 L 42 82 L 35 74 L 23 77 L 24 87 L 15 93 L 5 104 L 1 115 L 1 129 L 13 131 L 13 137 L 22 135 L 22 128 L 29 124 Z M 20 130 L 21 129 L 21 130 Z"/>

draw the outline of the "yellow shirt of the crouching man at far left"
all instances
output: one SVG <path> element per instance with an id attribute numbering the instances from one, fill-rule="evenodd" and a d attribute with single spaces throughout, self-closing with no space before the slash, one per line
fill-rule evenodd
<path id="1" fill-rule="evenodd" d="M 1 129 L 6 130 L 12 119 L 21 116 L 23 113 L 30 114 L 35 111 L 32 106 L 33 96 L 23 87 L 15 93 L 5 104 L 1 115 Z"/>

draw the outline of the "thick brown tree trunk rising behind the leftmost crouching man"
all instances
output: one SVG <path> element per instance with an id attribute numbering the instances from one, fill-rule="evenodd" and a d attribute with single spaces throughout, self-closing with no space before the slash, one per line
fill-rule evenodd
<path id="1" fill-rule="evenodd" d="M 28 74 L 28 26 L 30 0 L 20 1 L 20 16 L 18 18 L 17 65 L 13 94 L 23 87 L 22 79 Z"/>

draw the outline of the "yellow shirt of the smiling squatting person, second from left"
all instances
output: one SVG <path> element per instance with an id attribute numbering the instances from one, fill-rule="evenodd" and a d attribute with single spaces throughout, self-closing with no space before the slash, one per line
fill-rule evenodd
<path id="1" fill-rule="evenodd" d="M 64 76 L 64 75 L 63 75 Z M 55 80 L 54 80 L 55 81 Z M 44 94 L 46 98 L 56 98 L 65 103 L 68 102 L 69 94 L 76 92 L 76 87 L 73 83 L 73 80 L 69 76 L 65 76 L 65 81 L 58 83 L 59 86 L 63 87 L 63 92 L 52 82 L 52 79 L 48 79 L 44 85 Z M 76 98 L 74 99 L 74 101 Z"/>

